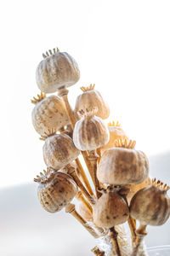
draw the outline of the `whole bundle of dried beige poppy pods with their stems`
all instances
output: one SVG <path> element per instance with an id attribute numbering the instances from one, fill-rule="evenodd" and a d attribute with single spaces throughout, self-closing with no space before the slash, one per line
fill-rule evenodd
<path id="1" fill-rule="evenodd" d="M 140 255 L 146 226 L 164 224 L 170 216 L 169 187 L 151 181 L 147 156 L 134 148 L 136 142 L 118 122 L 105 125 L 110 108 L 94 84 L 81 87 L 71 109 L 68 87 L 80 78 L 77 61 L 58 48 L 42 56 L 37 67 L 41 93 L 31 100 L 32 124 L 44 141 L 47 166 L 34 179 L 39 183 L 38 199 L 48 212 L 65 207 L 92 236 L 109 241 L 110 252 L 94 247 L 95 255 Z M 81 154 L 86 166 L 78 159 Z M 71 203 L 74 198 L 78 209 Z M 132 247 L 126 249 L 121 231 L 125 223 L 132 237 Z"/>

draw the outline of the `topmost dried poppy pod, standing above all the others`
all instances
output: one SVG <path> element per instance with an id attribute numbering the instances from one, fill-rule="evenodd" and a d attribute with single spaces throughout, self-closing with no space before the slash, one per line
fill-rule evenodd
<path id="1" fill-rule="evenodd" d="M 80 79 L 77 61 L 66 52 L 49 49 L 42 55 L 42 60 L 36 72 L 37 86 L 42 92 L 52 93 L 61 87 L 76 84 Z"/>

